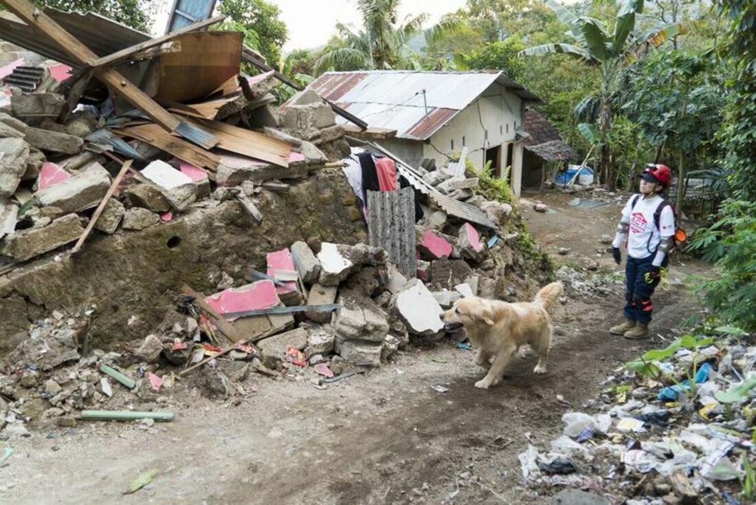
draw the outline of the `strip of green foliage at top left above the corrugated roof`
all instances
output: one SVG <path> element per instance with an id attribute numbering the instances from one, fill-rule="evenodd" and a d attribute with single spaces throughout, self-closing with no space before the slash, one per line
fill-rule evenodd
<path id="1" fill-rule="evenodd" d="M 162 2 L 156 0 L 37 0 L 36 5 L 46 5 L 60 11 L 91 11 L 114 21 L 149 33 L 150 18 L 160 10 Z"/>

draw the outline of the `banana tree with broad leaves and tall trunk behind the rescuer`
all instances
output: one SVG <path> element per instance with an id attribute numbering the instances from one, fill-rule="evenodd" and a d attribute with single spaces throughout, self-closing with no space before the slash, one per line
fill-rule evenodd
<path id="1" fill-rule="evenodd" d="M 605 24 L 593 17 L 576 16 L 554 0 L 547 5 L 562 23 L 567 24 L 567 36 L 574 43 L 553 42 L 520 51 L 521 55 L 562 54 L 578 58 L 584 64 L 596 67 L 601 76 L 598 93 L 600 132 L 600 170 L 610 189 L 615 188 L 616 170 L 609 161 L 609 131 L 612 129 L 612 93 L 618 86 L 622 70 L 637 61 L 649 48 L 662 45 L 667 39 L 682 33 L 679 23 L 656 26 L 644 33 L 636 33 L 636 15 L 643 12 L 643 0 L 624 0 L 617 13 L 613 33 Z"/>

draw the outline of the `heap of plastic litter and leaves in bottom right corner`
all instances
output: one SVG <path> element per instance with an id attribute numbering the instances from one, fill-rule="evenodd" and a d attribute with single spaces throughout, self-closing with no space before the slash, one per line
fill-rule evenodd
<path id="1" fill-rule="evenodd" d="M 683 335 L 609 377 L 592 414 L 565 413 L 548 449 L 519 455 L 525 483 L 590 503 L 754 503 L 756 346 L 717 331 L 730 335 Z"/>

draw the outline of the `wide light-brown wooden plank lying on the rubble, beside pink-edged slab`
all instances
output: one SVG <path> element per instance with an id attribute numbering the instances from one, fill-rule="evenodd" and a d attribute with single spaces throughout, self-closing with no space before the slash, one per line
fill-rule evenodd
<path id="1" fill-rule="evenodd" d="M 291 145 L 287 142 L 220 121 L 190 118 L 187 122 L 211 132 L 218 139 L 219 148 L 267 161 L 278 167 L 289 166 Z"/>

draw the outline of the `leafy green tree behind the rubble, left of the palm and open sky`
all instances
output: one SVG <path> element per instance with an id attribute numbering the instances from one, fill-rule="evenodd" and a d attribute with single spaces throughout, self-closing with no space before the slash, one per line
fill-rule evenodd
<path id="1" fill-rule="evenodd" d="M 255 48 L 265 56 L 271 67 L 277 67 L 281 46 L 288 39 L 286 24 L 280 17 L 280 8 L 265 0 L 223 0 L 221 14 L 243 26 L 245 41 L 255 40 Z M 252 35 L 254 33 L 254 36 Z"/>

